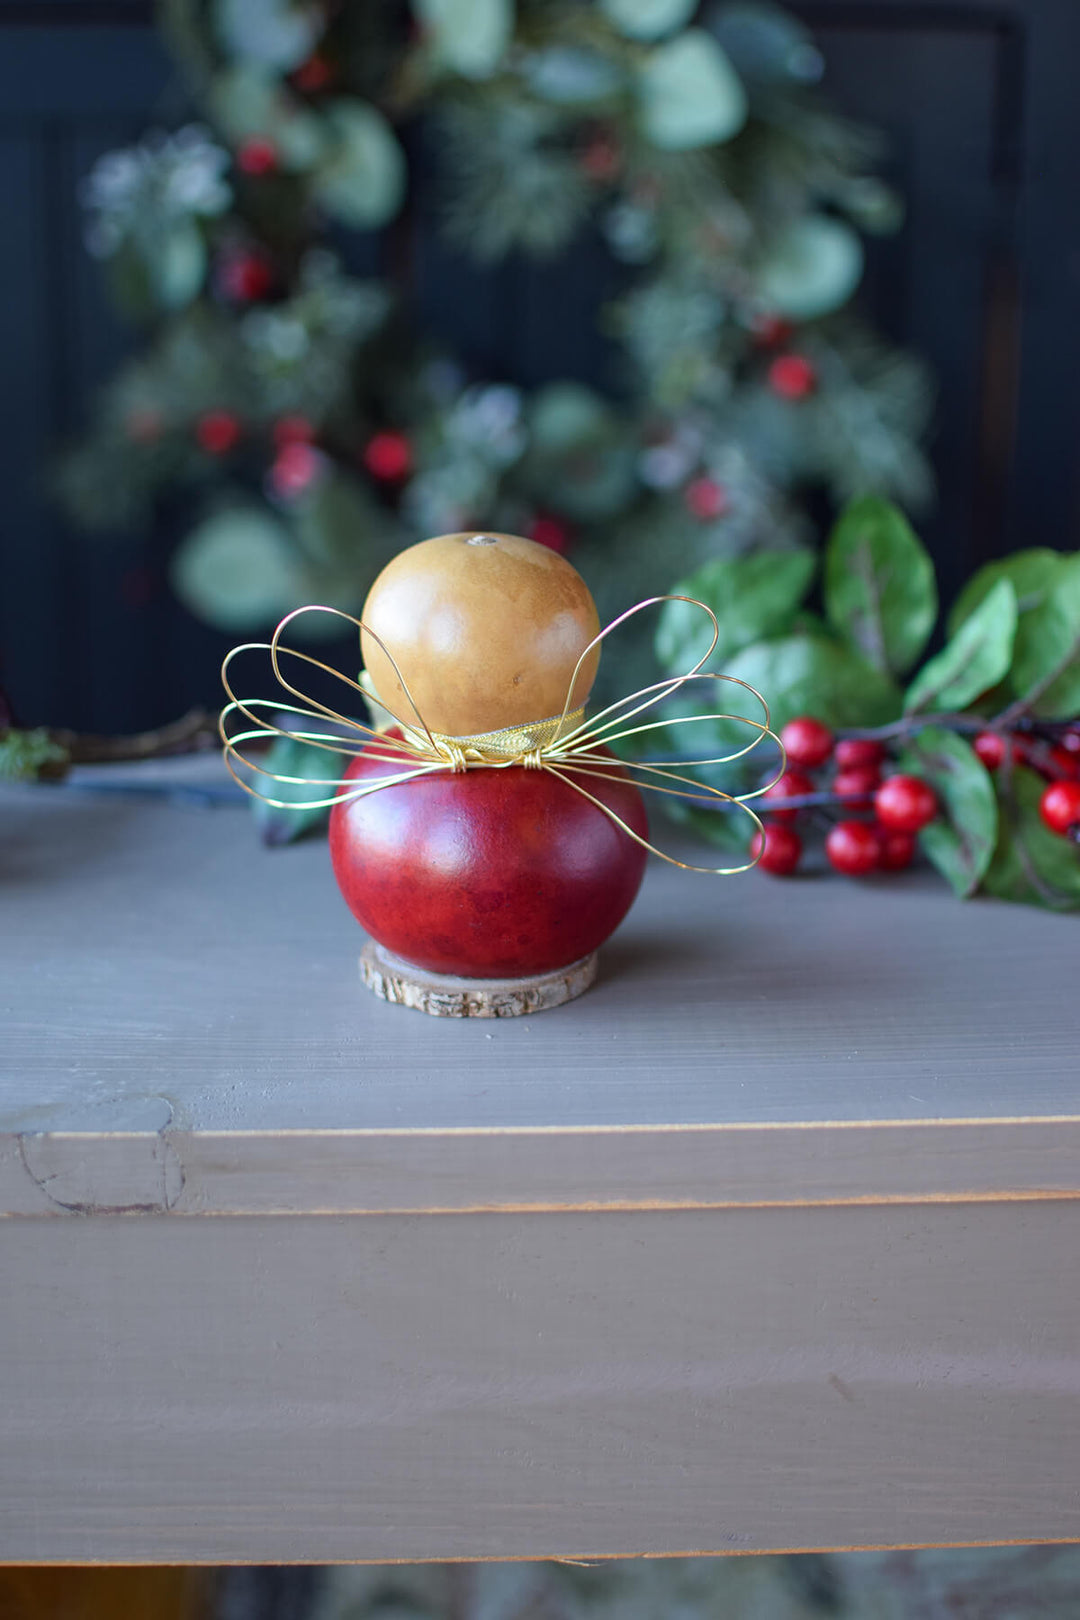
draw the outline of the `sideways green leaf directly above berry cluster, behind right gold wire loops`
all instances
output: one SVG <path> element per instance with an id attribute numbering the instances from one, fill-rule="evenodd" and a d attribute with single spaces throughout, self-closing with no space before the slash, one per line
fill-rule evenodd
<path id="1" fill-rule="evenodd" d="M 724 674 L 763 695 L 774 731 L 797 714 L 814 714 L 826 726 L 881 726 L 900 711 L 900 693 L 889 676 L 842 642 L 816 635 L 758 642 L 743 648 Z M 761 718 L 759 706 L 738 687 L 719 687 L 709 703 L 732 714 Z"/>

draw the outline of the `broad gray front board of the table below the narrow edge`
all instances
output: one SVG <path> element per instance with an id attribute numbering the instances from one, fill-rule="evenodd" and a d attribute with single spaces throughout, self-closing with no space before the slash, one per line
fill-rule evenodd
<path id="1" fill-rule="evenodd" d="M 1078 1238 L 1072 1202 L 8 1221 L 0 1557 L 1080 1539 Z"/>

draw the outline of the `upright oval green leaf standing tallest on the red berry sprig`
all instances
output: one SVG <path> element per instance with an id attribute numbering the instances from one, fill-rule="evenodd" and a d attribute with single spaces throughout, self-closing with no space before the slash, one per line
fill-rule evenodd
<path id="1" fill-rule="evenodd" d="M 934 565 L 889 501 L 865 496 L 840 514 L 824 562 L 831 624 L 876 669 L 904 674 L 938 617 Z"/>

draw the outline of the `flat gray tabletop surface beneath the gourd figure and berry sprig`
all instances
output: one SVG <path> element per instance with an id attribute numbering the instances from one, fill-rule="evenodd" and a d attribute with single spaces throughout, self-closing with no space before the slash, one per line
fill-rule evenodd
<path id="1" fill-rule="evenodd" d="M 321 842 L 117 794 L 0 807 L 0 1131 L 1080 1116 L 1075 919 L 929 873 L 657 867 L 588 995 L 486 1024 L 363 990 Z"/>

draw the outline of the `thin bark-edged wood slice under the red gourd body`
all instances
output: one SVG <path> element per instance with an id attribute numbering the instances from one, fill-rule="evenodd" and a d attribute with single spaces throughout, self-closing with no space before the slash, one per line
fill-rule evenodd
<path id="1" fill-rule="evenodd" d="M 382 1001 L 432 1017 L 525 1017 L 585 995 L 596 978 L 596 951 L 552 974 L 525 978 L 457 978 L 429 974 L 369 940 L 359 954 L 359 977 Z"/>

